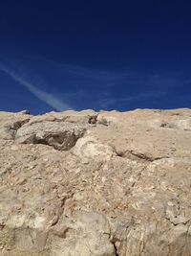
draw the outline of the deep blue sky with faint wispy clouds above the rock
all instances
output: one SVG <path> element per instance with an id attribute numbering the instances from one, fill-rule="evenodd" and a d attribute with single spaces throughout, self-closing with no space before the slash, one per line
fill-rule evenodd
<path id="1" fill-rule="evenodd" d="M 0 110 L 191 107 L 191 1 L 0 1 Z"/>

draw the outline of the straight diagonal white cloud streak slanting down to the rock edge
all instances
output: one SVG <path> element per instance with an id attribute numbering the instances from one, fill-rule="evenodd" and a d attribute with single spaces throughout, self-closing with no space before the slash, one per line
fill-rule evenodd
<path id="1" fill-rule="evenodd" d="M 5 72 L 8 76 L 11 77 L 14 81 L 19 82 L 25 88 L 27 88 L 36 98 L 46 103 L 47 105 L 52 106 L 54 109 L 58 111 L 63 111 L 67 109 L 73 109 L 71 105 L 68 105 L 59 99 L 57 99 L 52 93 L 48 93 L 39 89 L 33 82 L 26 80 L 21 74 L 11 70 L 3 63 L 0 63 L 0 70 Z"/>

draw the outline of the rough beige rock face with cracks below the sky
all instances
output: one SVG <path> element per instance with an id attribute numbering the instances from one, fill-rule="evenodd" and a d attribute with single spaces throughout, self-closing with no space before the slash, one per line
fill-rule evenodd
<path id="1" fill-rule="evenodd" d="M 191 255 L 191 109 L 0 112 L 0 256 Z"/>

